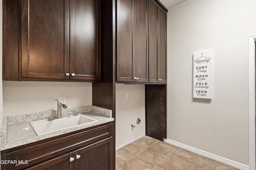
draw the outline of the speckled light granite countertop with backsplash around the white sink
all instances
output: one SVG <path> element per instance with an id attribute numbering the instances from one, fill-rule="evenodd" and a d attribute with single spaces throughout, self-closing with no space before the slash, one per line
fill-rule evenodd
<path id="1" fill-rule="evenodd" d="M 86 115 L 98 121 L 37 136 L 34 129 L 30 125 L 30 121 L 54 118 L 56 117 L 56 111 L 45 111 L 4 117 L 1 128 L 1 150 L 18 147 L 50 137 L 55 137 L 65 133 L 114 121 L 114 118 L 112 118 L 112 110 L 98 106 L 83 106 L 72 109 L 62 109 L 62 116 L 76 115 L 76 113 Z"/>

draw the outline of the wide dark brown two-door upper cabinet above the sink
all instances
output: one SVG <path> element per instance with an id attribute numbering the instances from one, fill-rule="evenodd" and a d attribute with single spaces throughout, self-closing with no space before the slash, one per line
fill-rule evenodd
<path id="1" fill-rule="evenodd" d="M 100 80 L 100 0 L 4 5 L 4 80 Z"/>

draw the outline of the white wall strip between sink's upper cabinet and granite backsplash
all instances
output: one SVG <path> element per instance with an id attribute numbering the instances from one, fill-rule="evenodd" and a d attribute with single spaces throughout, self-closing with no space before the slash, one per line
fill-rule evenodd
<path id="1" fill-rule="evenodd" d="M 4 116 L 56 110 L 60 96 L 68 108 L 92 105 L 92 84 L 3 81 Z"/>

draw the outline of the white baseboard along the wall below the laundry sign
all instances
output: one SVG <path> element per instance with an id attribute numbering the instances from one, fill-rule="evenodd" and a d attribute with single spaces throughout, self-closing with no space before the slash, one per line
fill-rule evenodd
<path id="1" fill-rule="evenodd" d="M 170 140 L 170 139 L 166 139 L 165 142 L 166 142 L 166 143 L 169 143 L 169 144 L 171 144 L 171 145 L 174 145 L 174 146 L 176 146 L 176 147 L 180 147 L 180 148 L 182 148 L 182 149 L 189 150 L 189 151 L 194 152 L 194 153 L 196 153 L 196 154 L 200 154 L 200 155 L 205 156 L 205 157 L 207 157 L 207 158 L 216 160 L 216 161 L 218 161 L 218 162 L 222 162 L 222 163 L 224 163 L 224 164 L 233 166 L 233 167 L 235 167 L 235 168 L 238 168 L 238 169 L 241 169 L 241 170 L 249 170 L 249 166 L 247 166 L 247 165 L 240 164 L 240 163 L 238 163 L 238 162 L 235 162 L 235 161 L 232 161 L 232 160 L 229 160 L 229 159 L 226 159 L 226 158 L 222 158 L 222 157 L 220 157 L 220 156 L 217 156 L 217 155 L 214 155 L 214 154 L 205 152 L 205 151 L 203 151 L 203 150 L 196 149 L 196 148 L 190 147 L 190 146 L 188 146 L 188 145 L 184 145 L 184 144 L 182 144 L 182 143 L 178 143 L 178 142 L 172 141 L 172 140 Z"/>

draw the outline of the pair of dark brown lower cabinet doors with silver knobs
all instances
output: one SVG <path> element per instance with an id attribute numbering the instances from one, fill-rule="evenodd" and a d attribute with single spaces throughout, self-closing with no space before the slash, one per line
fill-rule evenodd
<path id="1" fill-rule="evenodd" d="M 112 170 L 112 137 L 58 156 L 28 170 Z"/>

